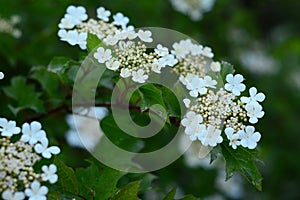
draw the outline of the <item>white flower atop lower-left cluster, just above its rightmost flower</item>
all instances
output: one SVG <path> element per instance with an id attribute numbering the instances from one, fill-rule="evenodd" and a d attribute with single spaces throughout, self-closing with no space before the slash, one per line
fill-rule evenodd
<path id="1" fill-rule="evenodd" d="M 36 144 L 42 138 L 46 137 L 45 131 L 41 130 L 42 125 L 40 122 L 31 122 L 30 125 L 25 123 L 22 125 L 21 141 L 28 142 L 29 144 Z"/>

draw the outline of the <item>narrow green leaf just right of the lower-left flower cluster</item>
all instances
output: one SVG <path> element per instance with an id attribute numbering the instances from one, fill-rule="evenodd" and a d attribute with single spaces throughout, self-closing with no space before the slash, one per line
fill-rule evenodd
<path id="1" fill-rule="evenodd" d="M 66 195 L 77 196 L 79 194 L 79 184 L 74 170 L 57 157 L 54 159 L 54 164 L 57 167 L 58 182 L 56 185 L 59 187 L 59 191 Z"/>

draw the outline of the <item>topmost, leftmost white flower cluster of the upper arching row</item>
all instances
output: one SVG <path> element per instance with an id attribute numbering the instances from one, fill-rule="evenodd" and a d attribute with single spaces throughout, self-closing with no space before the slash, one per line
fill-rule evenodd
<path id="1" fill-rule="evenodd" d="M 122 13 L 115 14 L 112 23 L 109 23 L 110 15 L 110 11 L 99 7 L 97 9 L 98 20 L 88 19 L 84 7 L 70 5 L 67 8 L 67 13 L 58 24 L 58 36 L 62 41 L 66 41 L 72 46 L 79 45 L 81 49 L 85 50 L 88 33 L 96 35 L 99 39 L 104 39 L 118 31 L 134 29 L 133 26 L 127 26 L 129 18 Z"/>

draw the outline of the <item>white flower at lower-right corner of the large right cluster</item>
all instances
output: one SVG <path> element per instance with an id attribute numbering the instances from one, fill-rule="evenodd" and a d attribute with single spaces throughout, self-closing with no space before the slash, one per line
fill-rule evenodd
<path id="1" fill-rule="evenodd" d="M 238 131 L 238 134 L 241 138 L 241 145 L 249 149 L 254 149 L 261 138 L 260 133 L 255 132 L 253 126 L 246 126 L 245 130 Z"/>

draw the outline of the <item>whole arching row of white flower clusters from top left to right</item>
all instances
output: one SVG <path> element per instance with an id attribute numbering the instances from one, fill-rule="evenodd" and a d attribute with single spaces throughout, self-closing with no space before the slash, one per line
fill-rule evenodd
<path id="1" fill-rule="evenodd" d="M 97 9 L 100 20 L 90 19 L 88 22 L 93 23 L 87 25 L 83 22 L 87 20 L 85 9 L 69 6 L 59 27 L 75 27 L 73 31 L 77 31 L 76 34 L 98 36 L 104 45 L 97 47 L 93 57 L 122 78 L 131 77 L 134 82 L 145 83 L 151 73 L 159 74 L 162 68 L 169 67 L 189 93 L 189 97 L 183 100 L 188 112 L 181 124 L 192 141 L 197 140 L 210 147 L 225 141 L 233 149 L 238 146 L 254 149 L 257 146 L 261 135 L 253 125 L 264 115 L 260 105 L 265 99 L 263 93 L 251 87 L 250 96 L 244 96 L 244 77 L 234 74 L 233 70 L 223 70 L 224 67 L 232 66 L 214 61 L 210 47 L 185 39 L 174 42 L 172 49 L 158 44 L 150 51 L 146 46 L 153 42 L 150 30 L 135 30 L 133 26 L 128 26 L 129 19 L 122 13 L 114 15 L 113 21 L 109 23 L 110 15 L 110 11 L 100 7 Z M 66 25 L 66 20 L 71 25 Z M 60 30 L 59 36 L 66 32 Z M 69 43 L 72 41 L 69 40 L 71 37 L 66 38 Z M 63 37 L 61 39 L 64 40 Z"/>

